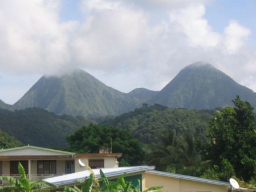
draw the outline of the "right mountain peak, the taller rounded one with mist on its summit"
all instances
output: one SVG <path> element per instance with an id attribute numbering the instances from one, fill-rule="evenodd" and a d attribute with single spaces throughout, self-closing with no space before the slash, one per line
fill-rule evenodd
<path id="1" fill-rule="evenodd" d="M 256 107 L 256 93 L 239 85 L 209 63 L 197 62 L 182 69 L 149 103 L 186 108 L 215 109 L 231 102 L 236 95 Z"/>

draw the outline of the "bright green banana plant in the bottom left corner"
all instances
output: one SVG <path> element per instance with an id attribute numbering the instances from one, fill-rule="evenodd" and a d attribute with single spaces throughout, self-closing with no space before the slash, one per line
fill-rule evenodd
<path id="1" fill-rule="evenodd" d="M 6 186 L 0 187 L 0 191 L 9 192 L 35 192 L 35 191 L 49 191 L 50 188 L 56 186 L 45 181 L 30 182 L 26 177 L 26 172 L 21 163 L 18 164 L 18 171 L 20 177 L 14 178 L 10 176 L 0 176 L 0 180 L 6 181 Z"/>

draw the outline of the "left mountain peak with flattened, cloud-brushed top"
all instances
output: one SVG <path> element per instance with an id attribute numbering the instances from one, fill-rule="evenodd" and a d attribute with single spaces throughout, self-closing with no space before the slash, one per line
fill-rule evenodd
<path id="1" fill-rule="evenodd" d="M 17 109 L 40 107 L 55 114 L 118 115 L 133 110 L 137 99 L 106 86 L 82 70 L 61 77 L 42 77 L 14 104 Z"/>

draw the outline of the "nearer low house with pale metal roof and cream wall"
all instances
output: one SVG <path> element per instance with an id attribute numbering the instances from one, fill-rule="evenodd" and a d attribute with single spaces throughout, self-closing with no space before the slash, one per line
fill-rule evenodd
<path id="1" fill-rule="evenodd" d="M 227 182 L 157 171 L 151 166 L 105 168 L 102 171 L 110 180 L 126 173 L 126 180 L 133 182 L 136 187 L 141 187 L 141 191 L 153 186 L 163 186 L 161 191 L 167 192 L 227 192 L 231 187 Z M 99 169 L 93 169 L 93 172 L 95 177 L 100 178 Z M 60 189 L 64 186 L 81 185 L 78 181 L 88 178 L 90 174 L 91 172 L 86 170 L 48 178 L 45 181 L 57 185 Z"/>

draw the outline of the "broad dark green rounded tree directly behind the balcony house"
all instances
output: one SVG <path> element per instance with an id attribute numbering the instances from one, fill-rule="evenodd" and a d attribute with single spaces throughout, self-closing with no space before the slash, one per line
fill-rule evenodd
<path id="1" fill-rule="evenodd" d="M 120 164 L 140 165 L 144 159 L 143 144 L 131 136 L 128 130 L 105 125 L 83 126 L 67 137 L 71 151 L 76 153 L 98 153 L 100 147 L 110 147 L 113 153 L 122 153 Z"/>

